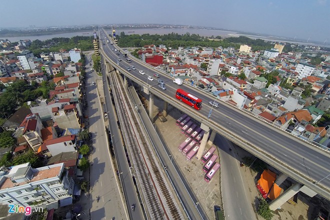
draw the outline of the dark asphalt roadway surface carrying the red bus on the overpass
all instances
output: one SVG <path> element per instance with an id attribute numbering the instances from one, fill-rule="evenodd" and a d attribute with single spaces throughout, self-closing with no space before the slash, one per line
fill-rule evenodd
<path id="1" fill-rule="evenodd" d="M 101 34 L 100 38 L 102 39 L 104 35 L 105 34 Z M 118 56 L 116 55 L 114 48 L 118 47 L 110 43 L 105 43 L 103 48 L 108 57 L 114 61 L 117 60 Z M 121 49 L 121 51 L 123 50 Z M 122 56 L 122 53 L 120 53 L 119 57 L 123 59 L 122 61 L 119 61 L 120 67 L 125 68 L 127 66 L 134 65 L 136 70 L 129 71 L 130 74 L 138 77 L 145 83 L 148 83 L 151 87 L 159 89 L 155 79 L 153 81 L 147 80 L 147 76 L 152 75 L 152 70 L 149 70 L 149 68 L 137 61 L 134 61 L 133 59 L 131 59 L 131 63 L 127 63 L 125 58 Z M 145 74 L 139 74 L 139 70 L 143 70 Z M 172 79 L 168 75 L 160 74 L 160 79 L 165 82 L 166 90 L 162 91 L 164 94 L 175 97 L 175 91 L 179 87 L 189 93 L 197 94 L 195 96 L 203 100 L 203 107 L 198 111 L 198 113 L 207 117 L 209 109 L 211 108 L 207 104 L 208 101 L 211 100 L 208 95 L 202 92 L 197 93 L 194 88 L 185 84 L 178 86 L 172 82 Z M 180 104 L 178 100 L 177 103 Z M 184 103 L 182 104 L 184 105 Z M 315 181 L 321 180 L 330 173 L 329 153 L 324 152 L 323 150 L 320 150 L 305 141 L 300 141 L 288 134 L 278 132 L 275 128 L 261 123 L 256 118 L 246 116 L 232 107 L 220 103 L 218 108 L 213 108 L 210 120 L 213 120 L 220 126 L 229 129 L 232 133 L 244 138 L 246 141 L 265 151 L 267 154 L 270 154 Z M 330 177 L 322 179 L 318 182 L 318 184 L 330 188 Z M 328 198 L 330 198 L 330 196 Z"/>

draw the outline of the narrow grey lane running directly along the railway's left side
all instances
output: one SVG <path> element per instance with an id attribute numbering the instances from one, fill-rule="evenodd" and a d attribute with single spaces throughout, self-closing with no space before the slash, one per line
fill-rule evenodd
<path id="1" fill-rule="evenodd" d="M 102 62 L 102 68 L 103 68 L 102 79 L 103 79 L 103 89 L 105 95 L 105 104 L 108 111 L 107 115 L 111 127 L 112 144 L 116 155 L 118 172 L 120 175 L 120 180 L 122 182 L 125 201 L 126 201 L 125 208 L 127 208 L 129 219 L 143 219 L 144 216 L 142 213 L 141 205 L 136 195 L 136 190 L 131 177 L 130 168 L 126 159 L 126 154 L 123 148 L 123 144 L 121 142 L 118 125 L 117 125 L 117 118 L 115 117 L 114 106 L 112 105 L 108 80 L 106 78 L 103 62 Z M 131 210 L 132 204 L 135 205 L 134 211 Z"/>

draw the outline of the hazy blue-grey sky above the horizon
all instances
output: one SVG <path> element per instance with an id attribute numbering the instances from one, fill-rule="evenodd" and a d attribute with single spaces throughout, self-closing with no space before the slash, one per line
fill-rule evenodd
<path id="1" fill-rule="evenodd" d="M 330 41 L 330 0 L 3 0 L 0 27 L 186 24 Z"/>

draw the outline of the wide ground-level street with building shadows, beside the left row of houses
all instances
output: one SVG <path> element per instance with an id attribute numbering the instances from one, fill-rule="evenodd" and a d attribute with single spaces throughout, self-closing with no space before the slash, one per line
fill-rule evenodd
<path id="1" fill-rule="evenodd" d="M 89 62 L 86 64 L 89 67 Z M 92 132 L 91 146 L 93 148 L 90 154 L 92 164 L 90 166 L 91 219 L 126 219 L 115 172 L 110 160 L 96 85 L 91 85 L 92 82 L 96 81 L 97 76 L 95 72 L 91 73 L 88 69 L 86 75 L 87 115 L 89 132 Z M 97 196 L 100 197 L 98 202 L 96 201 Z"/>

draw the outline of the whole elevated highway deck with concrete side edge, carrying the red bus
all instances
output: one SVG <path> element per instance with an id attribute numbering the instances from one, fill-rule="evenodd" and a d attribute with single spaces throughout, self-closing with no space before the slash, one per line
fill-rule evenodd
<path id="1" fill-rule="evenodd" d="M 101 30 L 100 41 L 102 44 L 104 37 L 108 38 L 108 35 Z M 117 55 L 117 51 L 114 49 L 120 49 L 121 53 Z M 123 50 L 114 44 L 105 42 L 101 51 L 116 69 L 141 87 L 209 126 L 297 182 L 330 199 L 330 154 L 328 151 L 280 130 L 226 102 L 220 101 L 219 107 L 213 108 L 212 114 L 207 120 L 211 108 L 207 103 L 214 100 L 215 96 L 187 84 L 178 86 L 172 82 L 172 77 L 168 74 L 132 56 L 130 56 L 132 62 L 127 63 L 122 56 Z M 118 57 L 122 61 L 117 61 Z M 125 67 L 131 65 L 134 65 L 136 69 L 126 71 Z M 140 74 L 139 70 L 143 70 L 145 74 Z M 147 79 L 147 76 L 152 76 L 155 72 L 160 75 L 160 79 L 164 80 L 166 90 L 158 88 L 156 79 L 153 81 Z M 175 98 L 177 88 L 182 88 L 201 98 L 203 100 L 202 108 L 195 110 L 177 100 Z"/>

